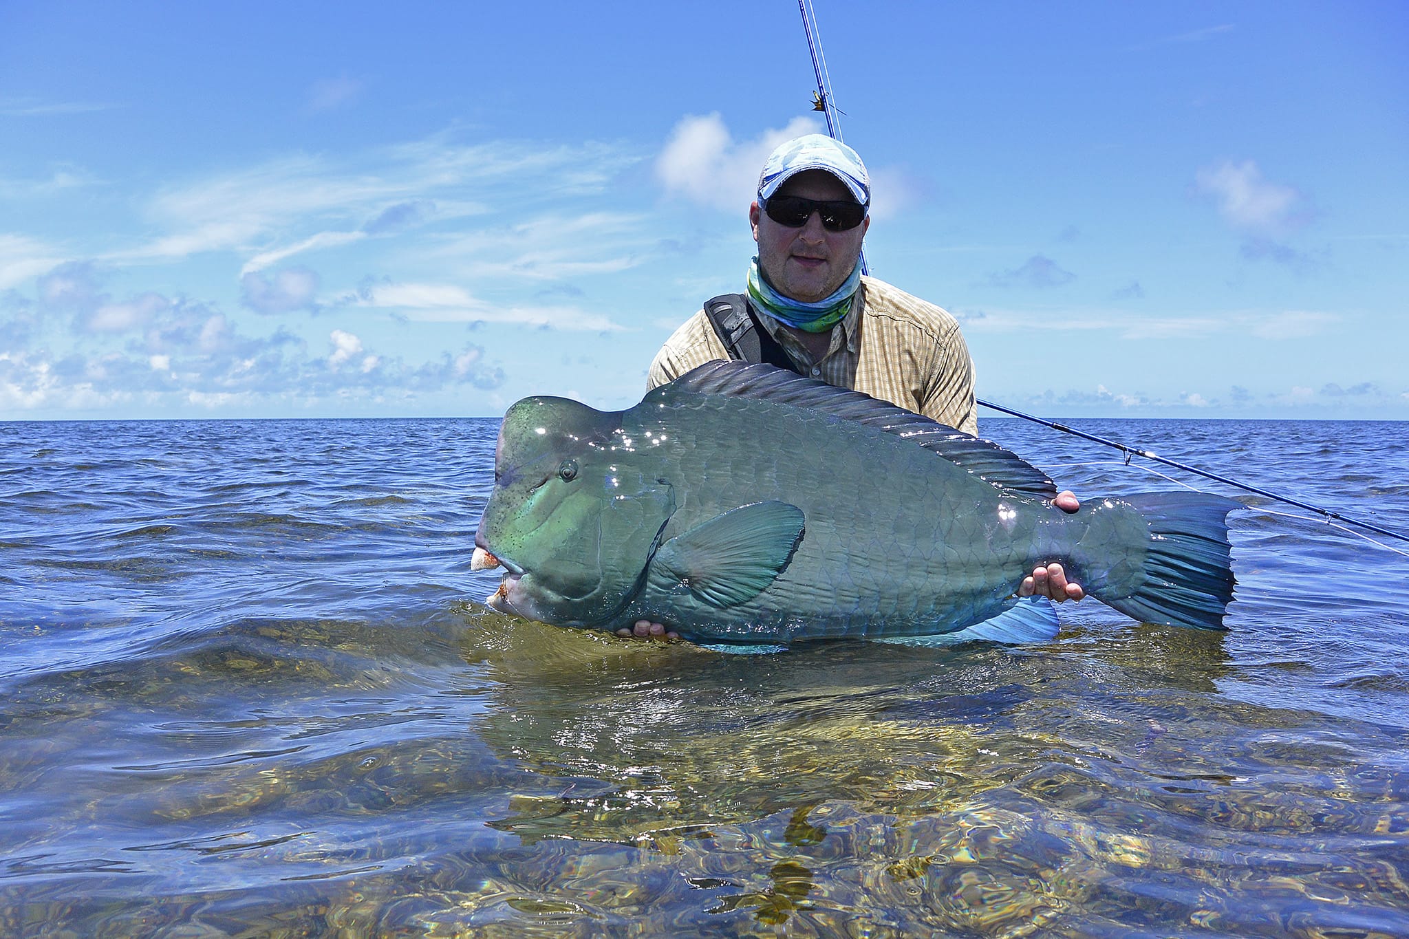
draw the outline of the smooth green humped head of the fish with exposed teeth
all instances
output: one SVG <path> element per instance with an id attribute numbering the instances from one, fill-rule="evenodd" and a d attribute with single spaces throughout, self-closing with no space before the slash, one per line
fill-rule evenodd
<path id="1" fill-rule="evenodd" d="M 475 543 L 509 572 L 497 610 L 555 625 L 602 625 L 644 583 L 675 500 L 643 466 L 621 412 L 555 397 L 509 408 L 495 489 Z"/>

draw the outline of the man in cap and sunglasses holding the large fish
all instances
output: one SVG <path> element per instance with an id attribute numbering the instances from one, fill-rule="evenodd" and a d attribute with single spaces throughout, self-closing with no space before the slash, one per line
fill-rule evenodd
<path id="1" fill-rule="evenodd" d="M 748 270 L 747 311 L 738 310 L 728 335 L 752 327 L 757 360 L 865 391 L 976 435 L 974 362 L 958 322 L 931 303 L 861 276 L 869 207 L 867 168 L 845 144 L 809 134 L 775 149 L 748 207 L 758 256 Z M 743 349 L 741 342 L 734 345 Z M 665 341 L 651 362 L 648 387 L 730 358 L 735 356 L 702 310 Z M 1078 508 L 1071 493 L 1055 504 L 1069 512 Z M 1085 591 L 1067 581 L 1061 565 L 1047 565 L 1019 588 L 1022 597 L 1033 594 L 1061 603 L 1081 600 Z M 647 621 L 617 632 L 675 638 L 662 624 Z"/>

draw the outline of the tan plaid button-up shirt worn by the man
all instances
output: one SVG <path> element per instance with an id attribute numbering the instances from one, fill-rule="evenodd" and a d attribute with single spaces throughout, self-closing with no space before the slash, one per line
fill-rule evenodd
<path id="1" fill-rule="evenodd" d="M 831 329 L 831 345 L 816 362 L 782 324 L 769 317 L 759 320 L 803 374 L 978 434 L 974 360 L 960 324 L 933 303 L 883 280 L 862 277 L 851 311 Z M 647 389 L 727 358 L 728 351 L 700 310 L 655 355 Z"/>

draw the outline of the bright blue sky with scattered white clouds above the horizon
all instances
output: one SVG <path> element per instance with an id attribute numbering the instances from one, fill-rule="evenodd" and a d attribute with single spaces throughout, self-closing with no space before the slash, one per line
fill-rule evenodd
<path id="1" fill-rule="evenodd" d="M 981 397 L 1409 420 L 1409 4 L 814 3 Z M 0 0 L 0 420 L 627 407 L 812 90 L 792 0 Z"/>

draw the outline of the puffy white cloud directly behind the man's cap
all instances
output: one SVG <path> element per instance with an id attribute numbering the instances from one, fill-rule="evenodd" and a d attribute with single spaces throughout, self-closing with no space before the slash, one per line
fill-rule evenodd
<path id="1" fill-rule="evenodd" d="M 717 111 L 688 115 L 671 131 L 657 158 L 655 177 L 671 196 L 740 213 L 758 190 L 758 170 L 768 155 L 786 139 L 820 130 L 814 118 L 797 117 L 781 130 L 735 141 Z"/>

